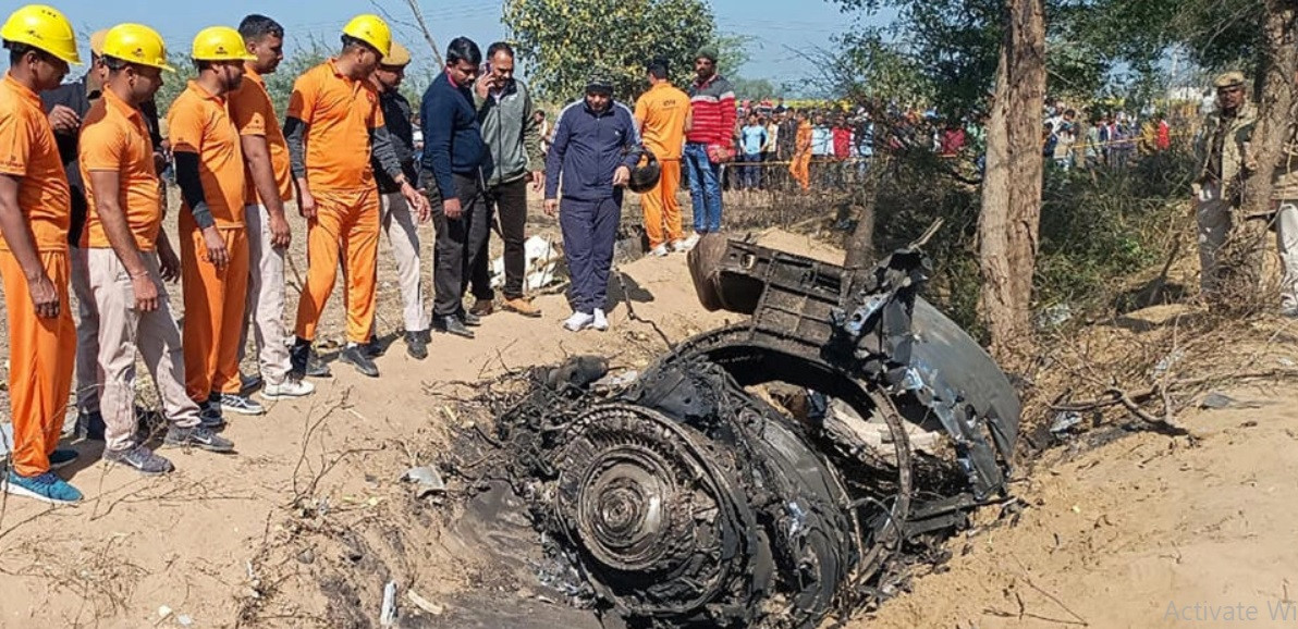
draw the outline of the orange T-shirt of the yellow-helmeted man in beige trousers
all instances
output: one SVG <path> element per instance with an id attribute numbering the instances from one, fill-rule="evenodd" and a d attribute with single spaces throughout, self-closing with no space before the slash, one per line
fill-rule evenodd
<path id="1" fill-rule="evenodd" d="M 149 127 L 139 109 L 127 105 L 112 89 L 104 89 L 86 114 L 82 125 L 79 165 L 82 182 L 86 185 L 86 232 L 87 244 L 93 249 L 110 249 L 113 245 L 104 233 L 95 201 L 93 187 L 90 185 L 91 171 L 112 170 L 119 176 L 122 211 L 126 223 L 135 236 L 135 246 L 141 252 L 152 252 L 162 228 L 162 191 L 153 166 L 153 143 L 149 140 Z"/>

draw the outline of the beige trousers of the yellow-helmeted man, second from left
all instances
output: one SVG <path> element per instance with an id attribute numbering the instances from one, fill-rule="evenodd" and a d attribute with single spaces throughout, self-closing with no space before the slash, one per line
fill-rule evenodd
<path id="1" fill-rule="evenodd" d="M 180 428 L 199 425 L 199 405 L 184 390 L 180 328 L 171 318 L 157 253 L 143 252 L 149 278 L 158 287 L 158 309 L 135 309 L 135 289 L 126 266 L 112 249 L 88 249 L 90 288 L 99 310 L 99 368 L 104 374 L 99 398 L 108 450 L 135 445 L 135 351 L 157 384 L 162 412 Z"/>

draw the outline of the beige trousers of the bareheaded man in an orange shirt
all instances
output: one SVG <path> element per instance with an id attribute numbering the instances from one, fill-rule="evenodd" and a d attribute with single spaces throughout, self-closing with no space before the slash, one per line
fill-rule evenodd
<path id="1" fill-rule="evenodd" d="M 248 349 L 248 327 L 257 341 L 257 362 L 266 384 L 283 384 L 288 375 L 284 344 L 284 250 L 270 244 L 270 213 L 265 206 L 244 208 L 248 223 L 248 301 L 239 335 L 239 362 Z"/>

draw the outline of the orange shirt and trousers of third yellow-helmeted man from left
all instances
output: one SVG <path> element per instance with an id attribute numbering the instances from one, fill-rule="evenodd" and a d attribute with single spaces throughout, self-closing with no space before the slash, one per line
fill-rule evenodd
<path id="1" fill-rule="evenodd" d="M 202 196 L 230 254 L 219 270 L 206 259 L 202 230 L 187 204 L 179 219 L 184 372 L 190 398 L 201 403 L 213 392 L 241 388 L 239 336 L 248 291 L 244 161 L 226 99 L 195 82 L 171 104 L 167 127 L 173 150 L 199 156 Z"/>

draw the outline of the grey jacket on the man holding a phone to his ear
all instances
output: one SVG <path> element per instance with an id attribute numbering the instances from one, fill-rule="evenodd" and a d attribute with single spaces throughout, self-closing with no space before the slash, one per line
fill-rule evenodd
<path id="1" fill-rule="evenodd" d="M 532 96 L 523 82 L 513 79 L 500 95 L 485 99 L 474 89 L 474 105 L 496 165 L 487 185 L 511 183 L 545 169 L 540 125 L 532 118 Z"/>

